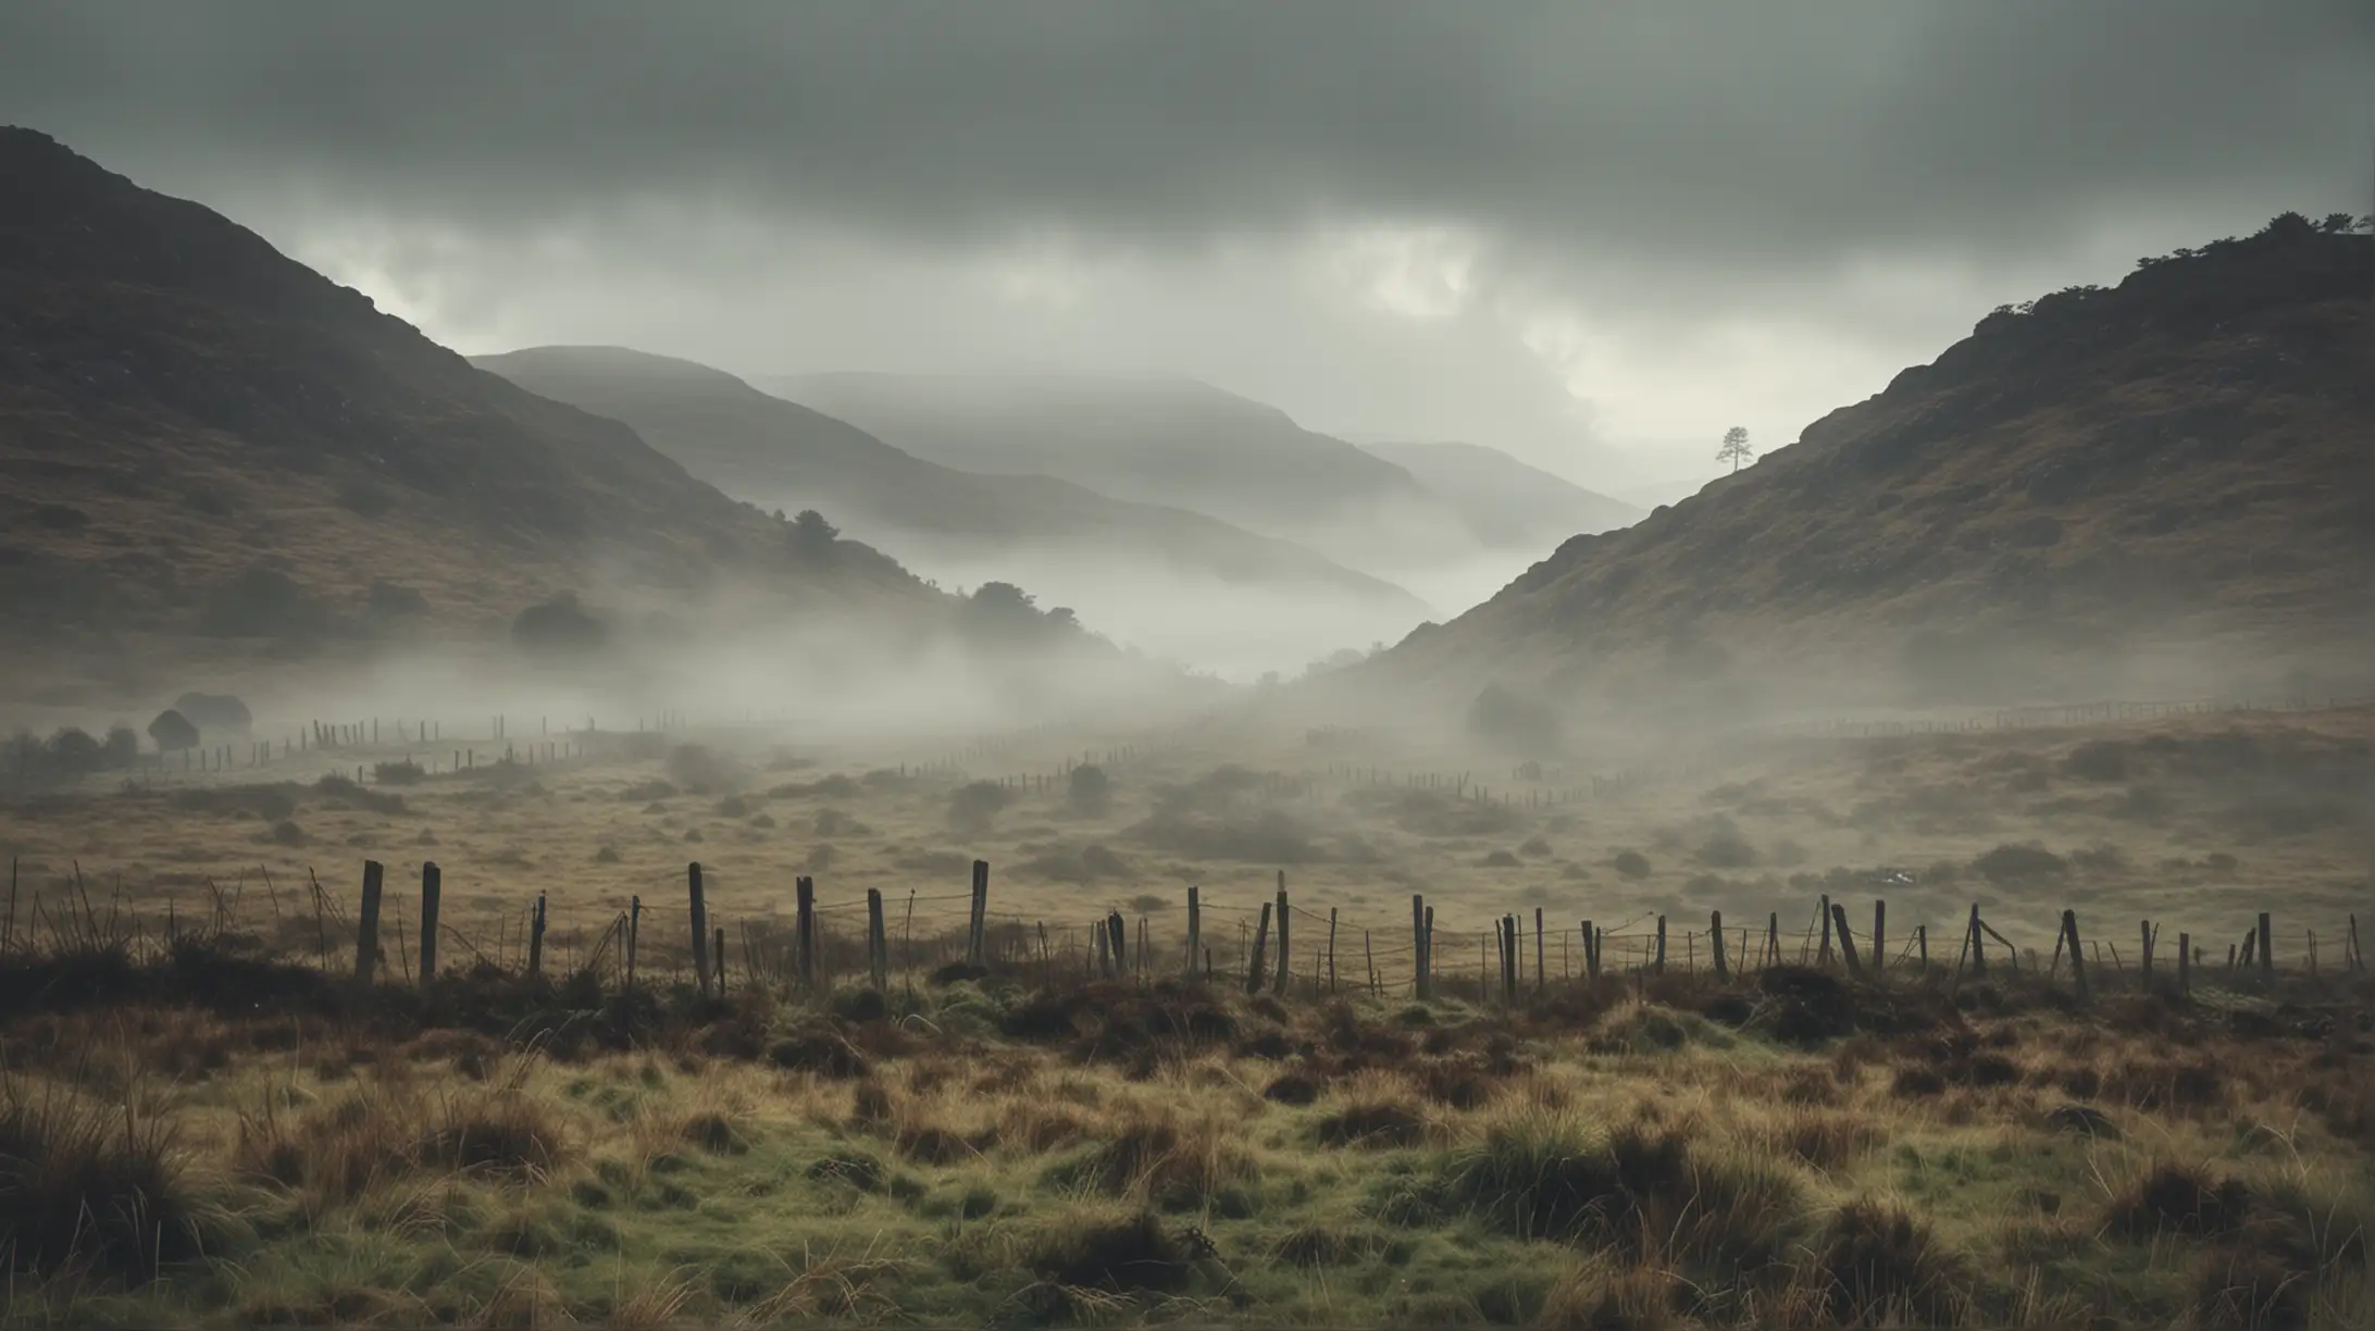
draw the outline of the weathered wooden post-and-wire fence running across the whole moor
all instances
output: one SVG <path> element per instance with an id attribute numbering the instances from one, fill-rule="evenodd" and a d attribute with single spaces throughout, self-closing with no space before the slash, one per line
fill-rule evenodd
<path id="1" fill-rule="evenodd" d="M 1568 920 L 1537 906 L 1499 917 L 1477 910 L 1482 917 L 1461 929 L 1449 917 L 1437 922 L 1425 894 L 1411 896 L 1408 920 L 1299 906 L 1285 870 L 1268 898 L 1214 901 L 1188 887 L 1176 913 L 1114 908 L 1088 920 L 993 908 L 986 860 L 974 860 L 964 891 L 917 884 L 905 894 L 819 898 L 815 879 L 800 877 L 788 915 L 779 903 L 712 913 L 710 879 L 691 863 L 672 891 L 656 882 L 648 896 L 577 903 L 575 920 L 553 922 L 542 894 L 446 915 L 435 863 L 423 865 L 416 894 L 390 894 L 385 865 L 366 860 L 359 894 L 325 887 L 314 872 L 290 884 L 256 870 L 230 877 L 228 887 L 207 879 L 195 896 L 128 896 L 119 877 L 95 896 L 81 865 L 33 887 L 12 863 L 0 960 L 76 948 L 166 955 L 185 939 L 242 936 L 285 960 L 352 972 L 361 984 L 575 977 L 603 991 L 689 984 L 703 996 L 758 989 L 800 998 L 993 974 L 1043 986 L 1185 977 L 1278 998 L 1366 993 L 1487 1005 L 1520 1003 L 1553 984 L 1662 974 L 1746 982 L 1774 967 L 1834 970 L 1872 984 L 2009 972 L 2069 984 L 2080 996 L 2107 986 L 2183 993 L 2197 984 L 2266 991 L 2301 977 L 2366 974 L 2356 913 L 2325 922 L 2320 934 L 2299 925 L 2278 932 L 2273 913 L 2261 910 L 2232 941 L 2192 932 L 2171 941 L 2161 922 L 2138 920 L 2138 932 L 2126 934 L 2135 948 L 2121 953 L 2118 932 L 2097 932 L 2092 922 L 2083 929 L 2076 910 L 2062 910 L 2047 958 L 2038 946 L 2016 946 L 1978 903 L 1938 929 L 1900 917 L 1890 932 L 1886 896 L 1869 903 L 1869 920 L 1850 917 L 1843 898 L 1819 896 L 1793 906 L 1788 927 L 1779 910 L 1750 922 L 1655 910 Z"/>

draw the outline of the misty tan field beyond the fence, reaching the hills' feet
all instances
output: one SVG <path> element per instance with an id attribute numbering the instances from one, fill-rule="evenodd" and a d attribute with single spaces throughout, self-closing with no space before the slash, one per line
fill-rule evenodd
<path id="1" fill-rule="evenodd" d="M 390 913 L 401 913 L 418 863 L 435 860 L 446 920 L 496 932 L 518 932 L 537 894 L 556 927 L 601 927 L 634 896 L 682 908 L 684 865 L 698 860 L 717 922 L 788 913 L 793 879 L 810 875 L 824 901 L 884 891 L 900 913 L 893 927 L 917 894 L 917 936 L 962 920 L 981 858 L 993 865 L 990 913 L 1052 932 L 1121 910 L 1178 944 L 1185 889 L 1199 884 L 1214 917 L 1204 944 L 1223 967 L 1237 922 L 1254 925 L 1280 870 L 1299 913 L 1340 913 L 1340 951 L 1358 929 L 1375 951 L 1406 948 L 1411 894 L 1468 939 L 1468 958 L 1489 920 L 1537 908 L 1553 953 L 1582 920 L 1634 934 L 1660 913 L 1677 934 L 1705 929 L 1710 910 L 1731 927 L 1781 913 L 1800 941 L 1831 894 L 1888 898 L 1900 944 L 1921 925 L 1957 939 L 1978 903 L 2009 939 L 2047 953 L 2059 913 L 2076 908 L 2130 963 L 2138 920 L 2232 944 L 2270 910 L 2280 955 L 2306 960 L 2308 932 L 2337 955 L 2346 915 L 2370 903 L 2370 725 L 2375 711 L 2337 708 L 1610 744 L 1596 763 L 1520 775 L 1392 734 L 1226 723 L 1028 734 L 905 761 L 698 730 L 446 739 L 454 725 L 430 749 L 394 744 L 387 723 L 375 749 L 93 777 L 0 803 L 0 853 L 17 858 L 28 901 L 55 901 L 78 865 L 93 891 L 183 910 L 209 910 L 214 889 L 245 882 L 238 891 L 280 915 L 306 910 L 309 870 L 352 901 L 366 856 L 390 865 Z M 520 763 L 496 761 L 506 744 Z M 546 744 L 589 756 L 527 765 L 527 749 Z M 401 772 L 375 775 L 378 763 L 449 768 L 454 753 L 475 765 L 404 784 Z M 235 746 L 235 763 L 247 756 Z M 1083 763 L 1097 777 L 1074 777 Z M 1313 941 L 1299 932 L 1297 967 Z M 1684 958 L 1679 936 L 1674 953 Z M 1437 955 L 1442 970 L 1468 965 L 1451 946 Z M 1565 972 L 1579 967 L 1570 951 Z"/>

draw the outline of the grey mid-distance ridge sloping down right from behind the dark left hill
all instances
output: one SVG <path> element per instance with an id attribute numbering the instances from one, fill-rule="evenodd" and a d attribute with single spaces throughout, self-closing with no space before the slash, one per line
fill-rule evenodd
<path id="1" fill-rule="evenodd" d="M 694 361 L 620 347 L 532 347 L 475 364 L 530 392 L 625 421 L 736 499 L 822 509 L 846 530 L 912 561 L 995 570 L 1002 556 L 1031 551 L 1059 556 L 1057 568 L 1062 559 L 1090 566 L 1123 561 L 1226 585 L 1323 589 L 1423 613 L 1408 592 L 1290 542 L 1183 509 L 1107 499 L 1045 475 L 974 475 L 922 461 L 855 425 Z M 1047 594 L 1064 599 L 1066 589 L 1050 585 Z"/>

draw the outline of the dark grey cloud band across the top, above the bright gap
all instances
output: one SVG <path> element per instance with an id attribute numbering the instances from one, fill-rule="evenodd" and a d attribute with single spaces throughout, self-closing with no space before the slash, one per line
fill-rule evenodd
<path id="1" fill-rule="evenodd" d="M 2356 0 L 66 0 L 0 14 L 0 119 L 480 226 L 625 197 L 917 240 L 1404 216 L 1503 261 L 1758 266 L 2351 207 L 2370 57 Z"/>

